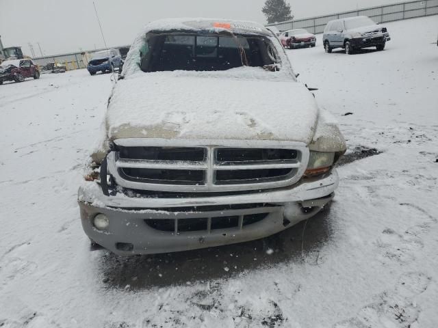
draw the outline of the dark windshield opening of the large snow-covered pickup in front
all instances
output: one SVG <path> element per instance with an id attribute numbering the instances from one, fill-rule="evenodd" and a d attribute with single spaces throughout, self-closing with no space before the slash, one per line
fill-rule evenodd
<path id="1" fill-rule="evenodd" d="M 146 36 L 140 50 L 144 72 L 229 70 L 276 64 L 276 53 L 263 36 L 168 33 Z"/>

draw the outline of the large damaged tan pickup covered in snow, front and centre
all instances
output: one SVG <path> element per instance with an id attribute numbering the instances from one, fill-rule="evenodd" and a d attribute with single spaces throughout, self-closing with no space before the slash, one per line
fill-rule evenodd
<path id="1" fill-rule="evenodd" d="M 276 36 L 248 22 L 147 25 L 103 125 L 78 200 L 92 242 L 120 255 L 281 232 L 332 200 L 346 150 Z"/>

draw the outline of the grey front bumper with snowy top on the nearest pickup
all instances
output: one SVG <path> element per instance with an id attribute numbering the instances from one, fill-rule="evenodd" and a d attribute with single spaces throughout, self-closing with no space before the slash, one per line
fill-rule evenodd
<path id="1" fill-rule="evenodd" d="M 118 255 L 158 254 L 229 245 L 263 238 L 309 219 L 331 201 L 339 183 L 337 172 L 324 178 L 302 180 L 292 187 L 214 197 L 128 197 L 102 194 L 99 184 L 85 182 L 79 188 L 83 230 L 95 243 Z M 221 207 L 222 206 L 222 207 Z M 227 207 L 229 206 L 229 207 Z M 187 210 L 187 208 L 194 210 Z M 102 213 L 110 221 L 108 230 L 94 228 L 94 217 Z M 244 225 L 243 218 L 265 215 Z M 239 217 L 237 226 L 213 228 L 211 218 Z M 198 231 L 157 230 L 145 220 L 210 218 L 207 229 Z M 175 223 L 178 226 L 178 223 Z"/>

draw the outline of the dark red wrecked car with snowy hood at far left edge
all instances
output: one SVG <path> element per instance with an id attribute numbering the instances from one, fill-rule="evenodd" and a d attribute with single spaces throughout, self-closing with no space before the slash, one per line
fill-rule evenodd
<path id="1" fill-rule="evenodd" d="M 32 59 L 6 60 L 0 64 L 0 85 L 3 81 L 23 82 L 28 77 L 40 78 L 40 70 Z"/>

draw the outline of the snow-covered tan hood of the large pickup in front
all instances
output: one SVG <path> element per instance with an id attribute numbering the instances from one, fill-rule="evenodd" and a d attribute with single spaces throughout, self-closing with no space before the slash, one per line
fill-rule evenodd
<path id="1" fill-rule="evenodd" d="M 109 140 L 263 139 L 308 144 L 318 106 L 286 72 L 152 72 L 114 87 L 105 118 Z"/>

